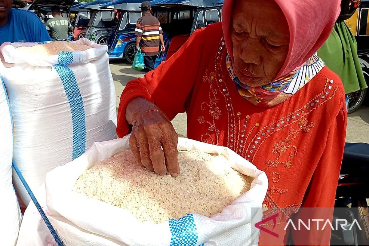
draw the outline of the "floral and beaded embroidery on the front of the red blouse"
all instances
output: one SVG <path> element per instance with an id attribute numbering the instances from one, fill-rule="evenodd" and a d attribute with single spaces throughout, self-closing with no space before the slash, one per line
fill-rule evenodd
<path id="1" fill-rule="evenodd" d="M 281 216 L 281 219 L 288 218 L 293 211 L 296 212 L 299 209 L 301 202 L 298 204 L 282 204 L 282 201 L 279 201 L 281 204 L 278 204 L 274 200 L 275 195 L 288 194 L 287 187 L 279 186 L 279 182 L 282 181 L 283 177 L 278 168 L 282 167 L 287 170 L 298 168 L 298 163 L 294 163 L 294 157 L 298 155 L 298 148 L 293 141 L 299 134 L 308 134 L 312 131 L 315 122 L 309 121 L 310 113 L 334 97 L 338 86 L 334 84 L 333 80 L 327 78 L 321 93 L 318 93 L 303 107 L 265 125 L 262 124 L 263 122 L 257 122 L 257 119 L 255 122 L 255 119 L 250 115 L 242 115 L 241 112 L 234 110 L 232 98 L 227 83 L 225 83 L 225 77 L 229 75 L 227 70 L 223 72 L 222 68 L 222 60 L 226 59 L 226 55 L 224 39 L 221 39 L 214 58 L 214 70 L 211 67 L 208 68 L 202 80 L 203 83 L 208 84 L 209 98 L 201 103 L 203 115 L 197 118 L 199 124 L 208 125 L 208 130 L 201 135 L 201 141 L 217 145 L 220 137 L 217 119 L 227 117 L 228 134 L 226 132 L 224 135 L 224 145 L 253 163 L 263 143 L 276 132 L 287 128 L 286 138 L 274 143 L 272 149 L 270 149 L 271 155 L 266 161 L 265 172 L 270 186 L 265 197 L 265 204 L 268 207 L 265 214 L 272 215 L 278 207 L 290 208 L 288 214 L 282 213 Z M 272 156 L 275 156 L 274 160 L 271 159 Z"/>

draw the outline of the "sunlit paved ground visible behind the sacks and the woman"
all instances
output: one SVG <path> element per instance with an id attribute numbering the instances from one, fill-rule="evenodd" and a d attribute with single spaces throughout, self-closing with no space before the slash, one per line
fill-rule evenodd
<path id="1" fill-rule="evenodd" d="M 120 95 L 128 81 L 135 77 L 143 77 L 143 73 L 131 69 L 124 61 L 110 62 L 117 95 L 117 106 Z M 179 114 L 172 121 L 179 136 L 186 136 L 187 119 L 186 114 Z M 369 108 L 362 107 L 357 112 L 350 114 L 347 124 L 346 142 L 369 143 Z"/>

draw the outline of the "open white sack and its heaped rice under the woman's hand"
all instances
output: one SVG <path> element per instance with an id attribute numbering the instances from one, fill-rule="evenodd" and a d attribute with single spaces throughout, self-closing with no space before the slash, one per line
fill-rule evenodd
<path id="1" fill-rule="evenodd" d="M 258 244 L 251 221 L 261 220 L 263 171 L 228 148 L 180 138 L 180 176 L 159 176 L 137 166 L 128 139 L 94 143 L 46 175 L 48 216 L 66 246 Z"/>

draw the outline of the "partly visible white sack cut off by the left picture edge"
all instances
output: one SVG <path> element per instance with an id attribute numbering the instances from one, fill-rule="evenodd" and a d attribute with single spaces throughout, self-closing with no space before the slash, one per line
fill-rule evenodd
<path id="1" fill-rule="evenodd" d="M 0 79 L 0 245 L 14 246 L 17 242 L 21 213 L 11 183 L 13 132 L 11 116 L 3 82 Z"/>

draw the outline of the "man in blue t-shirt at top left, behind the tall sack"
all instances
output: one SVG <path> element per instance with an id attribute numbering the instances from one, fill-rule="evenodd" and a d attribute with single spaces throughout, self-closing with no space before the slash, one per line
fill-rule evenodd
<path id="1" fill-rule="evenodd" d="M 3 42 L 51 41 L 37 15 L 11 8 L 11 4 L 12 0 L 0 1 L 0 45 Z"/>

